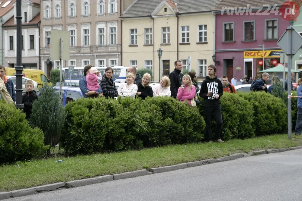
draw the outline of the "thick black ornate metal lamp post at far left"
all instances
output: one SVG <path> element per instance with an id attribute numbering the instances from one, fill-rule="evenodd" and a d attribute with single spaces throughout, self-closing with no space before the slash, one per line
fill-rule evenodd
<path id="1" fill-rule="evenodd" d="M 24 106 L 22 104 L 22 76 L 23 76 L 23 66 L 22 64 L 22 47 L 21 47 L 21 37 L 22 37 L 22 13 L 21 13 L 22 3 L 21 0 L 16 1 L 16 21 L 17 21 L 17 65 L 15 67 L 16 71 L 16 107 L 19 109 L 23 109 Z"/>

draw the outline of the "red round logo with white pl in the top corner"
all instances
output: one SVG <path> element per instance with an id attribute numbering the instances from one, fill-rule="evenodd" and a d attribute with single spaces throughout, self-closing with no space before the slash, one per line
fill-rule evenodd
<path id="1" fill-rule="evenodd" d="M 284 2 L 280 7 L 279 14 L 284 20 L 287 21 L 294 20 L 296 22 L 297 17 L 300 14 L 299 5 L 296 2 L 292 2 L 292 1 Z"/>

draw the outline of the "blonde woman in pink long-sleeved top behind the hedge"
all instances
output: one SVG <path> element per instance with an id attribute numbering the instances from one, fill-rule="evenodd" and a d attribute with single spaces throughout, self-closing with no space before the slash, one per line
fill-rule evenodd
<path id="1" fill-rule="evenodd" d="M 191 105 L 191 99 L 194 99 L 196 90 L 195 86 L 192 84 L 191 77 L 188 74 L 185 74 L 182 77 L 182 86 L 178 88 L 178 93 L 176 98 L 181 102 L 188 100 L 188 105 Z"/>

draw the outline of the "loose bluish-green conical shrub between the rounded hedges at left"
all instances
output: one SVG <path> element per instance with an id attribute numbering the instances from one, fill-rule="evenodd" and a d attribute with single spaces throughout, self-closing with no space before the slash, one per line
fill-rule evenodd
<path id="1" fill-rule="evenodd" d="M 31 126 L 40 127 L 43 130 L 45 145 L 50 145 L 50 148 L 56 146 L 59 143 L 66 115 L 53 86 L 45 84 L 40 96 L 32 105 L 29 120 Z"/>

